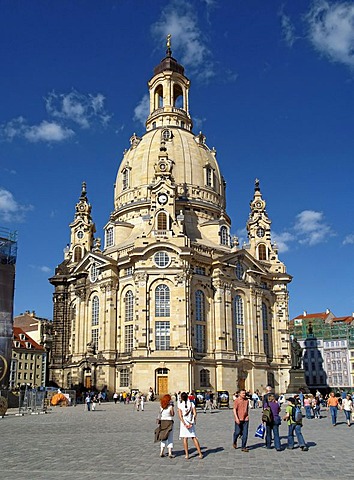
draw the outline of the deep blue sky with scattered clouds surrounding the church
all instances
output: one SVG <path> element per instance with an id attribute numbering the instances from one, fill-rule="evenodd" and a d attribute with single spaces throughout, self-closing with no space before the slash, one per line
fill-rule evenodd
<path id="1" fill-rule="evenodd" d="M 15 315 L 52 318 L 81 182 L 97 236 L 146 82 L 164 56 L 191 79 L 232 233 L 254 179 L 293 275 L 290 317 L 354 311 L 354 5 L 264 0 L 0 0 L 0 227 L 18 231 Z"/>

